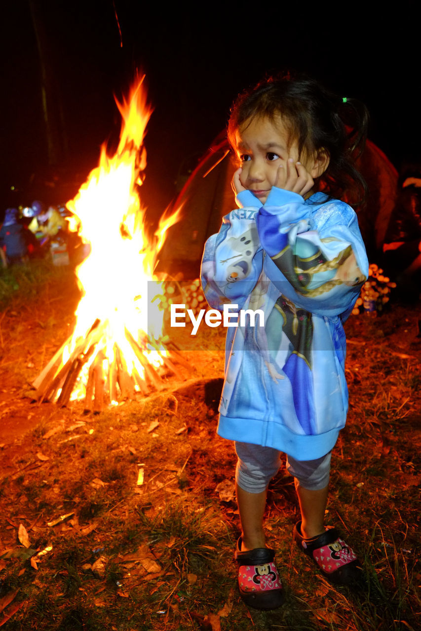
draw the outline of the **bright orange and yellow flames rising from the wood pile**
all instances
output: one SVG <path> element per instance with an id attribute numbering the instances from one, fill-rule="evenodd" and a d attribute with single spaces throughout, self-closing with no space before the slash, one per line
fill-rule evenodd
<path id="1" fill-rule="evenodd" d="M 163 312 L 159 310 L 159 300 L 155 300 L 162 294 L 162 288 L 154 277 L 154 268 L 165 234 L 178 221 L 180 213 L 164 216 L 153 242 L 147 240 L 145 209 L 136 191 L 140 172 L 146 165 L 143 139 L 152 114 L 142 82 L 143 78 L 131 89 L 128 101 L 116 100 L 123 119 L 116 154 L 107 156 L 102 146 L 99 166 L 92 170 L 76 197 L 66 204 L 80 219 L 82 239 L 91 249 L 76 270 L 82 298 L 66 354 L 70 356 L 80 341 L 87 338 L 95 321 L 101 323 L 97 327 L 100 339 L 95 345 L 95 355 L 85 363 L 71 399 L 85 396 L 90 365 L 95 358 L 96 361 L 102 358 L 106 375 L 113 373 L 116 353 L 133 386 L 139 389 L 145 365 L 133 350 L 133 340 L 137 350 L 141 349 L 147 361 L 155 366 L 162 364 L 166 355 L 160 342 Z M 64 355 L 63 361 L 66 361 Z M 116 386 L 111 380 L 108 376 L 113 402 Z"/>

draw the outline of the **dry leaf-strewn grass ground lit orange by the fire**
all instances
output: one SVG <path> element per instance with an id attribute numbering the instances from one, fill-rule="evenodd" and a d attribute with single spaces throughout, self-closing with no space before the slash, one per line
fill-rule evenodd
<path id="1" fill-rule="evenodd" d="M 358 551 L 366 583 L 357 591 L 334 588 L 307 565 L 291 542 L 298 519 L 293 483 L 280 471 L 266 523 L 287 598 L 283 608 L 260 612 L 247 610 L 236 591 L 238 514 L 235 502 L 216 490 L 232 481 L 235 467 L 232 445 L 215 435 L 221 331 L 194 344 L 188 339 L 190 380 L 169 379 L 164 391 L 143 400 L 97 416 L 83 415 L 78 403 L 31 404 L 23 396 L 27 381 L 67 337 L 77 300 L 66 274 L 54 271 L 34 283 L 32 297 L 8 302 L 0 323 L 0 413 L 6 410 L 4 420 L 15 414 L 17 422 L 32 415 L 34 426 L 0 439 L 0 625 L 11 631 L 419 628 L 419 308 L 396 305 L 376 321 L 360 316 L 347 325 L 351 404 L 334 451 L 327 522 Z M 221 350 L 209 350 L 211 344 Z M 48 526 L 62 515 L 68 517 Z M 28 547 L 19 539 L 20 524 Z"/>

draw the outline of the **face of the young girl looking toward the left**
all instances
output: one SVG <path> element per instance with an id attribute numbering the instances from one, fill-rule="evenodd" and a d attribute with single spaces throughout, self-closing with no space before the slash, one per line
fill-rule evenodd
<path id="1" fill-rule="evenodd" d="M 237 129 L 235 139 L 242 168 L 240 182 L 262 204 L 276 182 L 278 168 L 286 167 L 288 158 L 293 158 L 294 163 L 300 160 L 313 178 L 320 175 L 316 157 L 299 155 L 298 144 L 290 138 L 281 116 L 274 121 L 265 117 L 249 119 Z"/>

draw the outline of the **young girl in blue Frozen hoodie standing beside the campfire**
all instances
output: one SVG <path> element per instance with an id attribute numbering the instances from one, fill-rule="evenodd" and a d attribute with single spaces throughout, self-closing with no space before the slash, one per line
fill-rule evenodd
<path id="1" fill-rule="evenodd" d="M 348 408 L 342 323 L 368 274 L 357 216 L 334 196 L 350 184 L 364 189 L 352 155 L 366 126 L 361 103 L 307 78 L 264 81 L 231 110 L 240 209 L 207 241 L 202 285 L 214 309 L 264 313 L 264 326 L 246 315 L 245 326 L 228 328 L 217 430 L 235 440 L 242 529 L 235 558 L 241 598 L 255 608 L 284 599 L 263 529 L 281 452 L 300 504 L 297 545 L 333 582 L 360 572 L 324 514 L 331 450 Z"/>

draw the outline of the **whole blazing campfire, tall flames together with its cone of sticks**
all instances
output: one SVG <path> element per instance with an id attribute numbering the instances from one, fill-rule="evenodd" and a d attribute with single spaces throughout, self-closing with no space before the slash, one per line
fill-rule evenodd
<path id="1" fill-rule="evenodd" d="M 99 166 L 66 204 L 80 220 L 90 254 L 76 269 L 82 298 L 73 334 L 34 381 L 39 401 L 65 406 L 84 399 L 85 410 L 99 412 L 106 403 L 161 389 L 162 375 L 178 373 L 174 362 L 183 363 L 162 334 L 164 290 L 154 276 L 166 231 L 180 213 L 164 213 L 148 239 L 137 192 L 152 113 L 142 81 L 128 101 L 116 100 L 123 120 L 115 155 L 109 157 L 102 146 Z"/>

